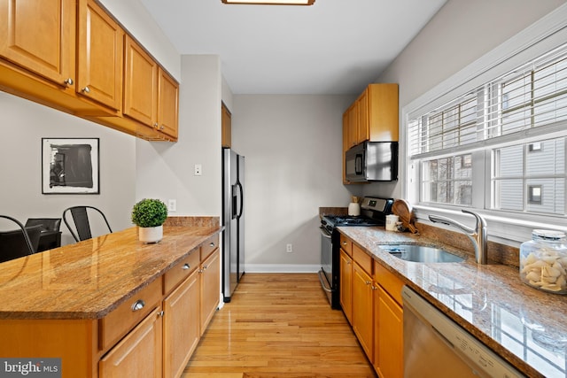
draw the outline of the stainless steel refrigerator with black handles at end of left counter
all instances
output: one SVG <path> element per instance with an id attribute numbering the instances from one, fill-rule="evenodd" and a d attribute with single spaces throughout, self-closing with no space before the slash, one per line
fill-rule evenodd
<path id="1" fill-rule="evenodd" d="M 245 273 L 245 157 L 222 149 L 222 295 L 230 302 Z"/>

